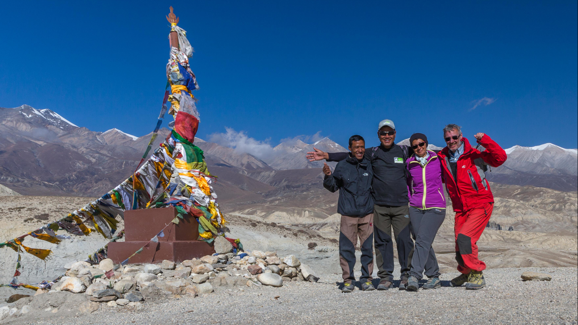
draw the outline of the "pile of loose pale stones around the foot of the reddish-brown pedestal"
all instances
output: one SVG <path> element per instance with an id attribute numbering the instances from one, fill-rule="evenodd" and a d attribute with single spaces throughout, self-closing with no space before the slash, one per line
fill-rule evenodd
<path id="1" fill-rule="evenodd" d="M 65 265 L 68 269 L 65 276 L 50 291 L 39 289 L 35 296 L 59 291 L 81 294 L 85 301 L 88 300 L 80 306 L 80 312 L 92 312 L 100 304 L 141 306 L 144 301 L 197 297 L 212 293 L 215 287 L 221 286 L 281 287 L 284 282 L 317 282 L 319 279 L 313 269 L 294 255 L 280 258 L 276 252 L 259 250 L 236 256 L 234 253 L 203 256 L 182 263 L 164 260 L 160 264 L 127 265 L 114 271 L 109 278 L 105 270 L 113 267 L 113 261 L 108 258 L 98 265 L 85 261 L 70 263 Z M 32 298 L 35 297 L 27 299 Z M 6 316 L 9 312 L 17 315 L 27 313 L 27 308 L 29 305 L 22 306 L 21 310 L 7 310 Z"/>

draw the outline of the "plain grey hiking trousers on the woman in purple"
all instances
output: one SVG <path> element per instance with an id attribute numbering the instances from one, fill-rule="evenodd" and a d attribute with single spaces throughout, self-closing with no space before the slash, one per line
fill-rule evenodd
<path id="1" fill-rule="evenodd" d="M 409 219 L 413 238 L 416 239 L 409 275 L 421 280 L 425 269 L 428 278 L 438 278 L 440 276 L 438 260 L 433 252 L 432 243 L 439 227 L 442 226 L 443 219 L 446 219 L 446 209 L 423 210 L 410 206 Z"/>

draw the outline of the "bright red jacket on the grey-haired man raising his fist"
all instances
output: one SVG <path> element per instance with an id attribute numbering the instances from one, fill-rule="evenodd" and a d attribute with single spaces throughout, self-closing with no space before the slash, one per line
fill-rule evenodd
<path id="1" fill-rule="evenodd" d="M 494 195 L 492 195 L 490 184 L 484 173 L 484 165 L 498 167 L 507 159 L 506 152 L 487 134 L 478 141 L 486 149 L 482 152 L 473 148 L 468 139 L 462 138 L 462 141 L 464 141 L 464 153 L 457 161 L 457 182 L 451 172 L 450 154 L 447 146 L 438 153 L 444 171 L 446 190 L 450 195 L 454 211 L 457 212 L 494 202 Z"/>

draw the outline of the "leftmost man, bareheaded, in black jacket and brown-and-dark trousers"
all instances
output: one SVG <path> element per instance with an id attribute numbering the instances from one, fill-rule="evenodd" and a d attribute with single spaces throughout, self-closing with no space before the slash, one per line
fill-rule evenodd
<path id="1" fill-rule="evenodd" d="M 339 234 L 339 264 L 343 271 L 343 292 L 353 291 L 355 276 L 355 245 L 361 243 L 361 289 L 375 290 L 371 284 L 373 272 L 373 200 L 371 183 L 373 172 L 365 157 L 365 140 L 360 135 L 349 138 L 351 153 L 339 161 L 334 172 L 323 167 L 323 187 L 339 190 L 337 212 L 341 215 Z"/>

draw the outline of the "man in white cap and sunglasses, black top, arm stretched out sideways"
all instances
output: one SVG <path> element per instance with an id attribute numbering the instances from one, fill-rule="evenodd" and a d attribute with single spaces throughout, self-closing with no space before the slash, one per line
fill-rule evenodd
<path id="1" fill-rule="evenodd" d="M 380 146 L 365 150 L 365 157 L 372 164 L 373 183 L 373 233 L 375 238 L 377 275 L 381 279 L 377 290 L 388 290 L 393 287 L 394 249 L 391 228 L 397 243 L 398 260 L 401 265 L 401 283 L 399 290 L 406 289 L 407 272 L 410 269 L 410 255 L 413 241 L 409 225 L 409 198 L 406 182 L 406 159 L 409 147 L 395 144 L 395 125 L 391 120 L 379 123 L 377 136 Z M 340 161 L 347 158 L 347 153 L 325 153 L 314 149 L 306 158 L 310 161 Z"/>

